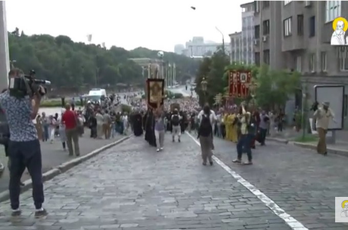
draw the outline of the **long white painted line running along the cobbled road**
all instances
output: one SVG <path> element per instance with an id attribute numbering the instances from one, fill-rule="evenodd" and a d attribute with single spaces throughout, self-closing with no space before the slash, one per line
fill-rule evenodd
<path id="1" fill-rule="evenodd" d="M 201 146 L 199 141 L 197 141 L 190 133 L 186 132 L 189 137 L 196 143 L 198 146 Z M 230 167 L 225 165 L 219 158 L 215 155 L 212 156 L 213 160 L 220 165 L 226 172 L 231 174 L 242 186 L 247 188 L 252 194 L 254 194 L 260 201 L 266 204 L 266 206 L 278 217 L 283 219 L 293 230 L 309 230 L 307 227 L 303 226 L 298 220 L 290 216 L 285 212 L 285 210 L 281 209 L 278 204 L 276 204 L 271 198 L 266 196 L 263 192 L 256 189 L 251 183 L 249 183 L 246 179 L 244 179 L 241 175 L 233 171 Z M 252 167 L 252 166 L 251 166 Z"/>

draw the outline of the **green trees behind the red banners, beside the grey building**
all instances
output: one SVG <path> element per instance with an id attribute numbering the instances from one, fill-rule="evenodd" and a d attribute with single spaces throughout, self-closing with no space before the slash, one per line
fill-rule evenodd
<path id="1" fill-rule="evenodd" d="M 239 62 L 229 64 L 226 56 L 224 57 L 223 53 L 217 52 L 211 58 L 204 58 L 198 68 L 195 91 L 200 97 L 201 104 L 204 102 L 204 92 L 201 86 L 203 77 L 206 77 L 208 82 L 207 102 L 213 104 L 217 94 L 227 94 L 230 71 L 251 71 L 251 76 L 257 84 L 256 103 L 263 108 L 284 107 L 289 96 L 294 95 L 300 87 L 300 75 L 297 72 L 269 70 L 266 65 L 257 67 Z M 233 101 L 238 104 L 240 101 L 249 101 L 250 99 L 251 96 L 246 99 L 233 99 Z"/>

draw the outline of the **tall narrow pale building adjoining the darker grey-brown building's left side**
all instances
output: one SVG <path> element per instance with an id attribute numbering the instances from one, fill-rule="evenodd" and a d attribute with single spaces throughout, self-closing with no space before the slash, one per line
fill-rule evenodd
<path id="1" fill-rule="evenodd" d="M 242 4 L 242 60 L 254 63 L 254 2 Z"/>

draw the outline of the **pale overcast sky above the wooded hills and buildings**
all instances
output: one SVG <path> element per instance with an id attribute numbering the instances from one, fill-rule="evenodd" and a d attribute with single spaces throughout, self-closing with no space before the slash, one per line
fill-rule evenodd
<path id="1" fill-rule="evenodd" d="M 242 27 L 239 0 L 7 0 L 7 29 L 25 34 L 67 35 L 74 41 L 105 42 L 127 50 L 173 51 L 193 36 L 221 42 Z M 196 7 L 192 10 L 190 6 Z"/>

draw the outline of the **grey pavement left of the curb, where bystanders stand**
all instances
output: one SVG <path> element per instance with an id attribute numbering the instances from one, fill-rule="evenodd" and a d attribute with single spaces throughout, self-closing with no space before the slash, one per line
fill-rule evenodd
<path id="1" fill-rule="evenodd" d="M 80 154 L 85 155 L 93 150 L 96 150 L 98 148 L 103 147 L 104 145 L 110 144 L 112 142 L 115 142 L 119 139 L 121 139 L 122 135 L 115 136 L 114 139 L 110 140 L 95 140 L 89 138 L 89 130 L 85 130 L 85 134 L 83 137 L 80 138 Z M 0 146 L 0 161 L 7 165 L 7 157 L 5 157 L 5 151 L 4 147 Z M 54 168 L 55 166 L 58 166 L 64 162 L 67 162 L 68 160 L 73 159 L 72 156 L 68 155 L 68 151 L 64 152 L 62 145 L 57 139 L 53 144 L 50 144 L 49 142 L 41 142 L 41 152 L 42 152 L 42 169 L 44 172 L 49 171 L 50 169 Z M 23 174 L 22 180 L 29 179 L 29 173 L 28 171 L 25 171 Z M 0 177 L 0 192 L 3 192 L 8 189 L 8 181 L 9 181 L 9 174 L 8 170 L 6 169 L 2 177 Z M 0 225 L 1 226 L 1 225 Z"/>

